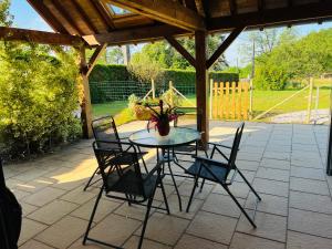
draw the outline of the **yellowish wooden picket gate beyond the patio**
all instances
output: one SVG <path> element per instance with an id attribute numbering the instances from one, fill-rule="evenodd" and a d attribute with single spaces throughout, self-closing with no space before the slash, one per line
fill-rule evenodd
<path id="1" fill-rule="evenodd" d="M 248 82 L 211 82 L 210 91 L 211 118 L 248 120 Z"/>

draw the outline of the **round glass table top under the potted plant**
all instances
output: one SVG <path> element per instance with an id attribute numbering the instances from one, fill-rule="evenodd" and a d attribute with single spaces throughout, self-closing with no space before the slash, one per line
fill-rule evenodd
<path id="1" fill-rule="evenodd" d="M 129 136 L 133 144 L 142 147 L 177 147 L 200 139 L 200 133 L 193 128 L 172 127 L 166 137 L 162 137 L 155 129 L 143 129 Z"/>

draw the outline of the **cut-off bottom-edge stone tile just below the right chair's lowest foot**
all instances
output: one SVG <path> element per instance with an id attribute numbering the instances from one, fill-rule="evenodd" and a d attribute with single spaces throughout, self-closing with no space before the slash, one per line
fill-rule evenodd
<path id="1" fill-rule="evenodd" d="M 284 243 L 235 232 L 229 249 L 283 249 Z"/>

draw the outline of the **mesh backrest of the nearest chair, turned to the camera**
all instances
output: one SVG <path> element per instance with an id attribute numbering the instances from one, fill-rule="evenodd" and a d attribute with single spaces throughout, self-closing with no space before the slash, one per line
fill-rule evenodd
<path id="1" fill-rule="evenodd" d="M 98 169 L 103 178 L 106 193 L 116 191 L 133 196 L 146 197 L 144 191 L 143 176 L 141 173 L 139 162 L 136 148 L 132 146 L 133 152 L 123 152 L 107 149 L 112 144 L 118 142 L 101 142 L 93 143 L 93 149 L 98 163 Z M 120 165 L 122 157 L 126 157 L 127 165 Z M 124 166 L 124 167 L 123 167 Z"/>

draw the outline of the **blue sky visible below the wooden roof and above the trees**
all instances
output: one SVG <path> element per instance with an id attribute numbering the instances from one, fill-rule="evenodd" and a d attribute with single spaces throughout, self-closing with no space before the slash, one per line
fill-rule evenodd
<path id="1" fill-rule="evenodd" d="M 41 30 L 41 31 L 52 31 L 49 24 L 31 8 L 31 6 L 25 0 L 12 0 L 11 14 L 14 15 L 14 27 L 21 29 L 32 29 L 32 30 Z M 331 29 L 332 21 L 324 22 L 322 24 L 305 24 L 305 25 L 297 25 L 297 32 L 300 35 L 307 35 L 310 32 L 319 31 L 321 29 Z M 241 66 L 242 60 L 241 54 L 239 52 L 239 48 L 243 42 L 246 42 L 248 37 L 248 32 L 242 32 L 237 40 L 228 48 L 225 52 L 226 60 L 229 65 L 237 65 L 237 63 Z M 142 46 L 134 48 L 134 51 Z"/>

